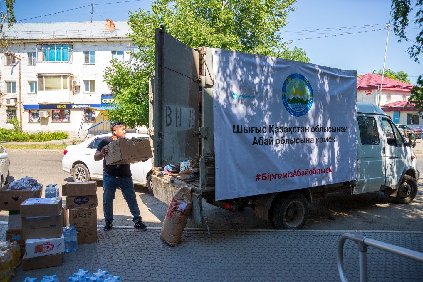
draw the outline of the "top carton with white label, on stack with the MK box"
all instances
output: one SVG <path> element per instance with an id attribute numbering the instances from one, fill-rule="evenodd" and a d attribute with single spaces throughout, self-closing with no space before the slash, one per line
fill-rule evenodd
<path id="1" fill-rule="evenodd" d="M 21 204 L 21 217 L 57 216 L 62 211 L 62 198 L 30 198 Z"/>

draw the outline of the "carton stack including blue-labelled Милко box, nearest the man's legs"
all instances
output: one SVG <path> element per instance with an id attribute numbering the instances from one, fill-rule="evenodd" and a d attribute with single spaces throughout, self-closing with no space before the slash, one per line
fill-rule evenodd
<path id="1" fill-rule="evenodd" d="M 62 186 L 69 217 L 67 226 L 78 232 L 78 245 L 97 242 L 97 184 L 96 181 L 67 183 Z"/>

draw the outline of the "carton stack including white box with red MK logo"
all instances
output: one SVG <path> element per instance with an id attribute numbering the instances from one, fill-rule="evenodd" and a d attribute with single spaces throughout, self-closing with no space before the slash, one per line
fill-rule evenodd
<path id="1" fill-rule="evenodd" d="M 61 198 L 28 198 L 20 205 L 23 270 L 62 265 L 65 251 Z"/>

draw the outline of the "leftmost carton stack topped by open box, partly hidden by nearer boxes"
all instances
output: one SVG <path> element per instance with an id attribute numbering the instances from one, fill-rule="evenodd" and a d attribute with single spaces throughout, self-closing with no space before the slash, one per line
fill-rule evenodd
<path id="1" fill-rule="evenodd" d="M 28 198 L 39 198 L 43 189 L 39 190 L 7 190 L 10 183 L 0 188 L 0 210 L 9 211 L 6 240 L 17 241 L 21 247 L 21 257 L 25 254 L 25 240 L 22 238 L 22 220 L 20 205 Z"/>

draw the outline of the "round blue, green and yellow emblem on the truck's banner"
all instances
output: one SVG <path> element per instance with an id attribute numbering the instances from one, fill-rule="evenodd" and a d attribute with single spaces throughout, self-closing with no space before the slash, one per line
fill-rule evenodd
<path id="1" fill-rule="evenodd" d="M 282 86 L 282 101 L 285 109 L 295 117 L 308 113 L 313 105 L 313 89 L 301 74 L 289 75 Z"/>

